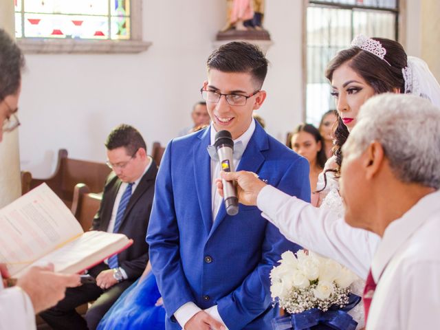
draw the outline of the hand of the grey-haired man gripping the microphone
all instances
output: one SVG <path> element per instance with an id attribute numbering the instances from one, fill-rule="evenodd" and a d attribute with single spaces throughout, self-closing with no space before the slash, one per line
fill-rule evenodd
<path id="1" fill-rule="evenodd" d="M 246 172 L 245 170 L 240 170 L 239 172 L 221 171 L 220 175 L 222 179 L 226 181 L 236 181 L 239 202 L 243 205 L 256 205 L 256 197 L 266 185 L 265 182 L 259 179 L 258 175 L 253 172 Z M 221 179 L 217 179 L 216 184 L 217 191 L 221 197 L 223 197 L 223 184 L 221 183 Z"/>

